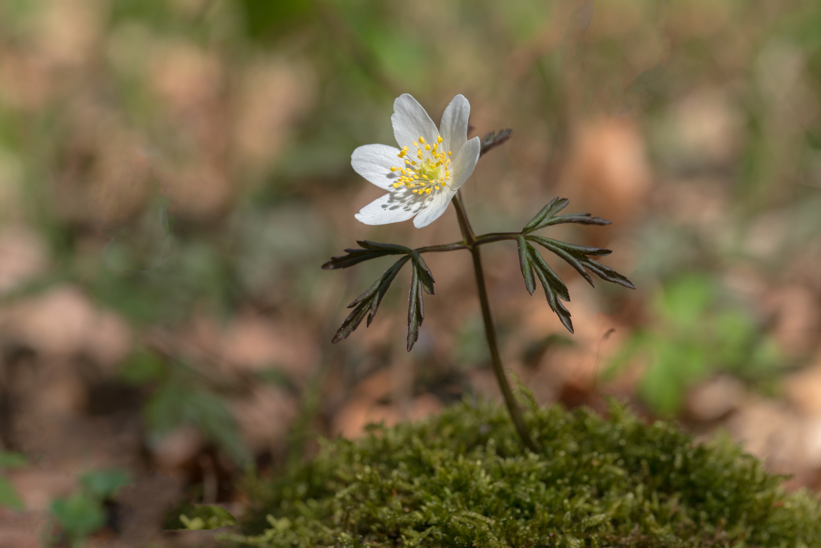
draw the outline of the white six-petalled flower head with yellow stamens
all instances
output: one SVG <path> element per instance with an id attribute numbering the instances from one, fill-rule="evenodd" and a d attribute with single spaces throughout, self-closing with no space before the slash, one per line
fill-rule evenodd
<path id="1" fill-rule="evenodd" d="M 467 140 L 470 103 L 456 95 L 436 125 L 416 99 L 402 94 L 393 102 L 393 136 L 399 149 L 363 145 L 351 154 L 351 166 L 388 194 L 355 215 L 365 224 L 406 221 L 416 228 L 433 223 L 479 160 L 479 137 Z"/>

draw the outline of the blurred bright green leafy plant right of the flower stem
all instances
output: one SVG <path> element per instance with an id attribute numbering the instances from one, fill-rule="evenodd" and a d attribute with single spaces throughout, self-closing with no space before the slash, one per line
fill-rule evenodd
<path id="1" fill-rule="evenodd" d="M 681 410 L 687 389 L 716 373 L 748 382 L 776 371 L 779 351 L 748 311 L 721 298 L 706 274 L 672 279 L 653 299 L 658 321 L 637 329 L 610 361 L 609 378 L 636 359 L 646 361 L 639 394 L 663 416 Z"/>

